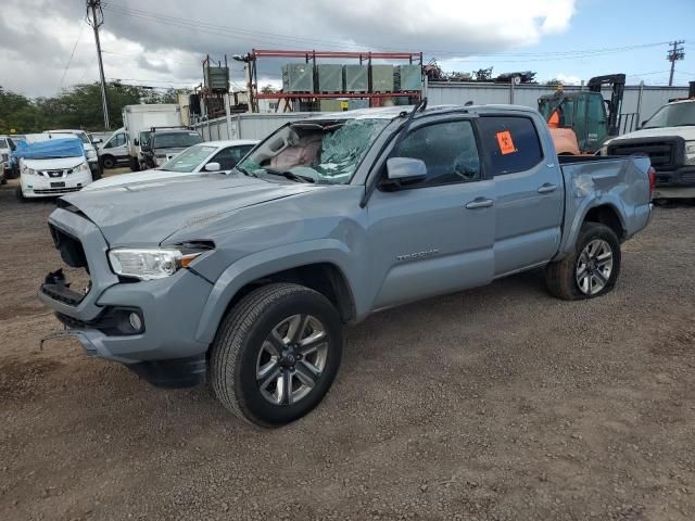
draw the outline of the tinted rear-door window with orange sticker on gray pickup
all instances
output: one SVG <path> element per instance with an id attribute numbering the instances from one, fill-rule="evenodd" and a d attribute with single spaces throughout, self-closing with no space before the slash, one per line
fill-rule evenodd
<path id="1" fill-rule="evenodd" d="M 481 116 L 478 128 L 491 175 L 526 171 L 543 161 L 541 140 L 530 117 Z"/>

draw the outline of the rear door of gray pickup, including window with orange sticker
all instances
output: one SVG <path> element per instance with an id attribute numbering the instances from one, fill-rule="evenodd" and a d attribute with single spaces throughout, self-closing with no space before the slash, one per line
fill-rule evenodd
<path id="1" fill-rule="evenodd" d="M 544 153 L 530 115 L 481 116 L 477 124 L 494 177 L 494 276 L 547 263 L 559 247 L 565 193 L 554 151 Z"/>

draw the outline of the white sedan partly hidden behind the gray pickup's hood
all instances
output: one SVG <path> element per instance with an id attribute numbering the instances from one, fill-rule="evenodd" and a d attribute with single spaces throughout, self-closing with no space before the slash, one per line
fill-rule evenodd
<path id="1" fill-rule="evenodd" d="M 157 168 L 105 177 L 92 182 L 85 190 L 161 182 L 211 171 L 229 173 L 257 142 L 253 139 L 232 139 L 194 144 Z"/>

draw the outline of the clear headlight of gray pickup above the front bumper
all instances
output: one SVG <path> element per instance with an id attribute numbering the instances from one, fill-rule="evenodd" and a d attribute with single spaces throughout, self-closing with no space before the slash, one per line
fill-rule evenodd
<path id="1" fill-rule="evenodd" d="M 117 247 L 109 252 L 109 260 L 116 275 L 152 280 L 169 277 L 188 267 L 202 253 L 184 253 L 175 247 Z"/>

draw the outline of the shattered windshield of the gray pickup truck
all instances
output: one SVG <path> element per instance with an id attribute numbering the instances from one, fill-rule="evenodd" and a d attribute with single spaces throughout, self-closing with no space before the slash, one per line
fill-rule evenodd
<path id="1" fill-rule="evenodd" d="M 239 166 L 254 176 L 346 185 L 389 119 L 299 122 L 281 128 Z"/>

